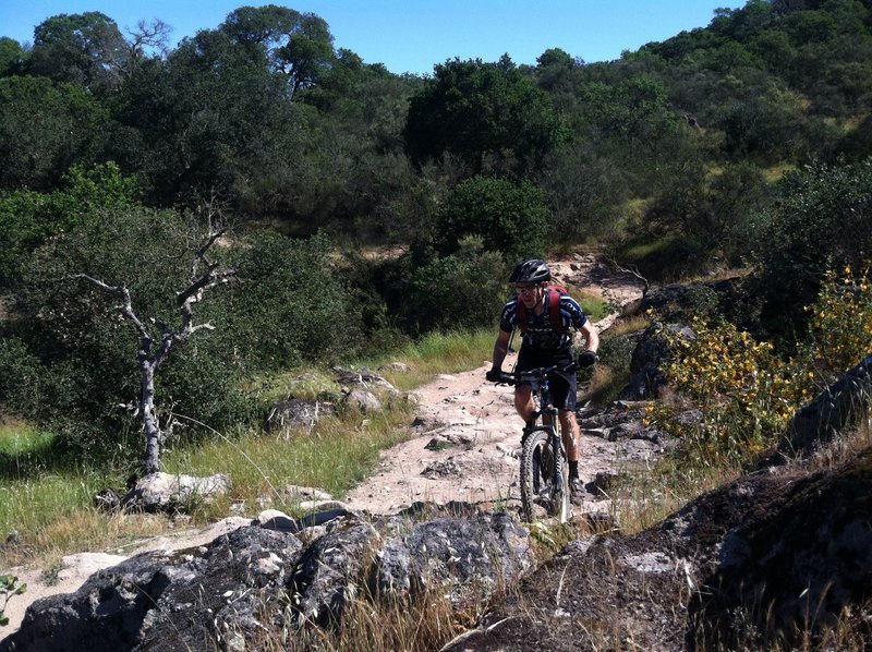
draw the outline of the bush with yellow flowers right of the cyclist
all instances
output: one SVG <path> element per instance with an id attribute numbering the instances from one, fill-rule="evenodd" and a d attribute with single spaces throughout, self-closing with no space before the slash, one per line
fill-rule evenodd
<path id="1" fill-rule="evenodd" d="M 667 403 L 651 403 L 646 419 L 685 438 L 697 461 L 736 462 L 775 444 L 794 413 L 839 373 L 872 351 L 872 283 L 869 269 L 841 278 L 829 273 L 811 313 L 810 336 L 796 359 L 776 354 L 727 322 L 695 318 L 695 337 L 665 330 L 670 386 L 697 418 Z M 682 414 L 685 414 L 682 416 Z"/>

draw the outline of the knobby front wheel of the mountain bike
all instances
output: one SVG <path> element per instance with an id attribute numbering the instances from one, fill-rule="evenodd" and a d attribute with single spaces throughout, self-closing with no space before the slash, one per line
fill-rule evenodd
<path id="1" fill-rule="evenodd" d="M 558 442 L 555 447 L 554 442 Z M 528 433 L 521 448 L 521 508 L 526 522 L 533 522 L 536 507 L 564 523 L 569 518 L 569 464 L 550 428 Z M 556 450 L 555 450 L 556 448 Z"/>

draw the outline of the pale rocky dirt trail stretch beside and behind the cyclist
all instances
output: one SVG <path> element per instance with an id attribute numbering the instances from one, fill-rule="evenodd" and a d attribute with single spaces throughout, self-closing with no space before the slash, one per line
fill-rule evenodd
<path id="1" fill-rule="evenodd" d="M 614 271 L 590 255 L 577 254 L 550 266 L 559 282 L 600 295 L 615 306 L 613 314 L 596 323 L 600 330 L 611 324 L 619 306 L 642 295 L 638 279 Z M 504 369 L 512 363 L 510 355 Z M 380 470 L 355 487 L 346 503 L 372 514 L 392 514 L 419 500 L 517 509 L 522 424 L 512 407 L 511 388 L 484 381 L 489 366 L 491 362 L 483 360 L 477 369 L 443 375 L 419 388 L 414 396 L 420 406 L 420 434 L 383 452 Z M 583 431 L 581 447 L 579 472 L 585 484 L 598 472 L 614 472 L 635 455 L 620 442 Z M 601 498 L 589 494 L 576 510 L 607 509 L 607 502 Z"/>

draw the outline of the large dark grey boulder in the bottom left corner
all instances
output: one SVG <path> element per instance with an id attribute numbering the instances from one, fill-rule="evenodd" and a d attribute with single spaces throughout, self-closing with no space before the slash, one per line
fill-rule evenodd
<path id="1" fill-rule="evenodd" d="M 33 603 L 0 651 L 170 652 L 220 649 L 226 631 L 262 636 L 263 614 L 287 604 L 301 547 L 291 535 L 244 527 L 205 548 L 136 555 L 75 593 Z"/>

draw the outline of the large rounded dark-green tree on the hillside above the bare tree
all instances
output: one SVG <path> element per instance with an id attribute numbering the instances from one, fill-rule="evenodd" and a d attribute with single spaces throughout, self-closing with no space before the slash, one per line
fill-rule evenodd
<path id="1" fill-rule="evenodd" d="M 254 189 L 299 155 L 299 111 L 283 75 L 220 31 L 144 62 L 117 106 L 141 142 L 130 155 L 160 204 L 197 205 L 213 192 L 232 204 L 254 201 Z"/>

